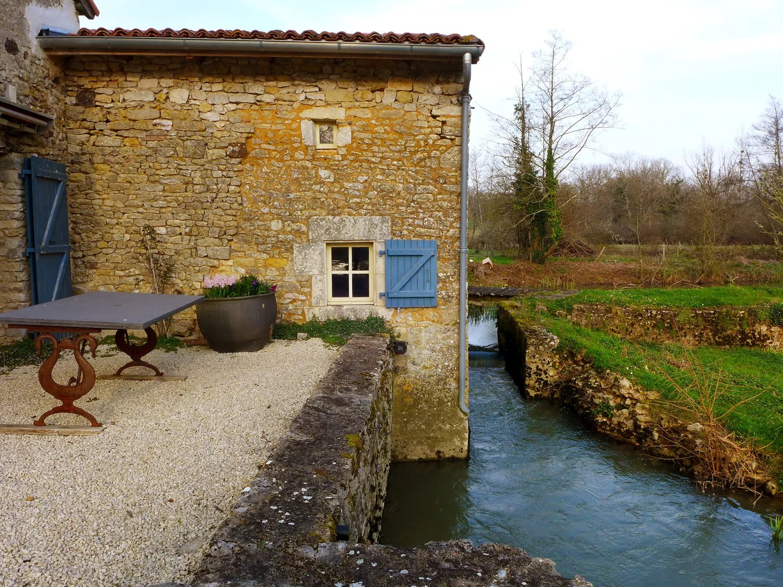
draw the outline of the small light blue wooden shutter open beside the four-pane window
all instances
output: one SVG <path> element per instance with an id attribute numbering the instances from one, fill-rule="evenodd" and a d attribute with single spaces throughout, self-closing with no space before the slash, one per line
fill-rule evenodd
<path id="1" fill-rule="evenodd" d="M 434 240 L 386 241 L 387 308 L 438 305 L 438 243 Z"/>

